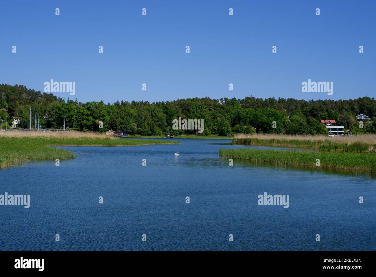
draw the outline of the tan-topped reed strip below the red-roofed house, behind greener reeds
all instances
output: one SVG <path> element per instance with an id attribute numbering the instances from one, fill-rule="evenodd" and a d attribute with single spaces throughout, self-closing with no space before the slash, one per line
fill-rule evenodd
<path id="1" fill-rule="evenodd" d="M 270 144 L 319 147 L 320 150 L 343 152 L 376 152 L 376 135 L 334 136 L 236 134 L 234 144 Z"/>

